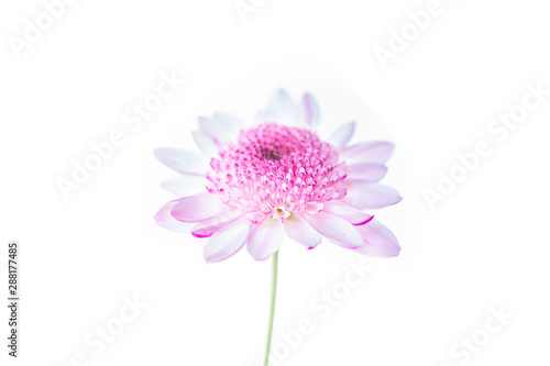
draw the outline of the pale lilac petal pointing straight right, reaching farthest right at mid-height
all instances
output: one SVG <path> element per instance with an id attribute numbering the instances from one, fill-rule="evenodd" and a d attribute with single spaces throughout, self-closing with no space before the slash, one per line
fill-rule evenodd
<path id="1" fill-rule="evenodd" d="M 344 179 L 343 186 L 346 189 L 344 202 L 360 210 L 382 209 L 402 200 L 397 190 L 377 182 Z"/>

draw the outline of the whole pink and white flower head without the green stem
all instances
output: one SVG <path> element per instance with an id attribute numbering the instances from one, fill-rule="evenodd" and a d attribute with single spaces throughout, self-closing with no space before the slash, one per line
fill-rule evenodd
<path id="1" fill-rule="evenodd" d="M 220 113 L 199 118 L 193 136 L 201 153 L 155 151 L 180 174 L 162 186 L 182 197 L 161 208 L 155 221 L 207 237 L 207 263 L 227 259 L 244 245 L 265 260 L 285 235 L 309 249 L 324 237 L 364 255 L 398 255 L 394 234 L 364 212 L 402 200 L 394 188 L 378 184 L 394 145 L 349 146 L 354 122 L 322 141 L 315 132 L 318 123 L 310 95 L 296 106 L 283 90 L 252 127 Z"/>

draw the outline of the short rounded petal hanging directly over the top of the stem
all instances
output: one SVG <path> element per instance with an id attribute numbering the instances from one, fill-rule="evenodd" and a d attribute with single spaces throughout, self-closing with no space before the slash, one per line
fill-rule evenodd
<path id="1" fill-rule="evenodd" d="M 285 239 L 283 222 L 266 219 L 252 231 L 249 236 L 246 249 L 256 260 L 265 260 L 277 252 Z"/>

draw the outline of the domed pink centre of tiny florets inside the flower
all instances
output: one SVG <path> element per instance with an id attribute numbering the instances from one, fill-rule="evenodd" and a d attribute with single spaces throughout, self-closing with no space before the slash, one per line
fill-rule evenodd
<path id="1" fill-rule="evenodd" d="M 208 189 L 251 218 L 284 220 L 345 195 L 337 149 L 310 130 L 264 123 L 241 132 L 237 144 L 211 160 Z"/>

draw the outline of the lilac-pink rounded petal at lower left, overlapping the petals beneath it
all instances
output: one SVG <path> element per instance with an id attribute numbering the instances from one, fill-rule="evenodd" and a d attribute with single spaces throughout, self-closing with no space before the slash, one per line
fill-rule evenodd
<path id="1" fill-rule="evenodd" d="M 174 206 L 172 215 L 183 222 L 199 222 L 220 214 L 224 208 L 219 195 L 202 192 L 183 198 Z"/>

